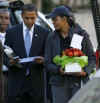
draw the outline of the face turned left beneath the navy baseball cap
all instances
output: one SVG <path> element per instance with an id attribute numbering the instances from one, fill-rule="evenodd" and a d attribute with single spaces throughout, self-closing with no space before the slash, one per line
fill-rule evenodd
<path id="1" fill-rule="evenodd" d="M 56 30 L 61 30 L 65 26 L 65 19 L 60 16 L 56 16 L 55 18 L 52 18 L 53 25 Z"/>

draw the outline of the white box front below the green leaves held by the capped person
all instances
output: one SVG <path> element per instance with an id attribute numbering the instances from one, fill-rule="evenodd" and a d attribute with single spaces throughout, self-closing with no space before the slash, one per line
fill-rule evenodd
<path id="1" fill-rule="evenodd" d="M 65 72 L 81 72 L 81 66 L 78 63 L 67 64 Z"/>

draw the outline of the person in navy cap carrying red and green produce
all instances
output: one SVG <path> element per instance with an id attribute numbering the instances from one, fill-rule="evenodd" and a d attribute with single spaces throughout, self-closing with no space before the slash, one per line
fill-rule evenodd
<path id="1" fill-rule="evenodd" d="M 45 67 L 50 74 L 53 103 L 68 103 L 95 67 L 95 56 L 88 34 L 75 23 L 69 7 L 55 8 L 52 18 L 55 31 L 46 42 Z M 69 51 L 68 51 L 69 50 Z M 72 66 L 72 64 L 78 64 Z M 65 72 L 65 68 L 79 68 L 79 72 Z M 66 69 L 67 70 L 67 69 Z"/>

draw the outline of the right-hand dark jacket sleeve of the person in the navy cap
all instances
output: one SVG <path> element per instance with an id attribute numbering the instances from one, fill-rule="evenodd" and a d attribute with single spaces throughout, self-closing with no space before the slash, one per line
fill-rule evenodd
<path id="1" fill-rule="evenodd" d="M 93 72 L 94 68 L 96 68 L 96 57 L 94 54 L 92 43 L 89 39 L 89 35 L 85 32 L 82 49 L 86 56 L 88 56 L 88 66 L 85 67 L 85 72 L 88 75 Z"/>

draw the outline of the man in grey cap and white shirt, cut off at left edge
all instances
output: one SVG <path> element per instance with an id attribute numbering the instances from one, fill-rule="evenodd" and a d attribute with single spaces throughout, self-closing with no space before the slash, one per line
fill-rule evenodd
<path id="1" fill-rule="evenodd" d="M 4 46 L 4 42 L 5 42 L 6 30 L 9 26 L 9 23 L 10 23 L 10 14 L 9 14 L 8 8 L 4 8 L 4 7 L 0 8 L 0 41 L 3 46 Z M 6 59 L 5 53 L 4 53 L 4 58 Z M 6 101 L 8 68 L 4 64 L 2 66 L 2 71 L 3 71 L 3 75 L 2 75 L 3 99 L 4 99 L 4 101 Z"/>

